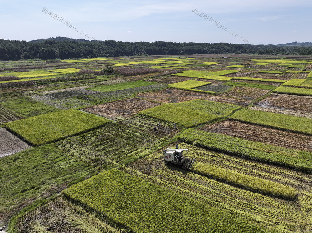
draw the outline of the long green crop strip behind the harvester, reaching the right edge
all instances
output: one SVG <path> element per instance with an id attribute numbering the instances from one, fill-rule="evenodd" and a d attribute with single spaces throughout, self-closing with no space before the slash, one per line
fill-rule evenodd
<path id="1" fill-rule="evenodd" d="M 184 130 L 178 136 L 178 140 L 245 159 L 269 162 L 312 173 L 312 153 L 306 151 L 285 149 L 194 128 Z"/>

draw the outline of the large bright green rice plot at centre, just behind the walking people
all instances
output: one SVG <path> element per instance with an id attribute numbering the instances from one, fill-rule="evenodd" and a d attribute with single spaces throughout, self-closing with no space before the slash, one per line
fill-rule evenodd
<path id="1" fill-rule="evenodd" d="M 221 119 L 241 109 L 240 106 L 208 100 L 191 100 L 182 103 L 163 104 L 139 112 L 168 122 L 177 122 L 184 127 L 193 127 Z"/>

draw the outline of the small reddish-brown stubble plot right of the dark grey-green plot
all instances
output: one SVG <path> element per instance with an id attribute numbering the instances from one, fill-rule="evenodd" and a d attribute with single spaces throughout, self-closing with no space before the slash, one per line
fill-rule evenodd
<path id="1" fill-rule="evenodd" d="M 220 96 L 232 96 L 234 98 L 241 98 L 246 100 L 256 100 L 261 96 L 268 94 L 269 90 L 249 87 L 233 87 L 231 90 L 220 94 Z"/>

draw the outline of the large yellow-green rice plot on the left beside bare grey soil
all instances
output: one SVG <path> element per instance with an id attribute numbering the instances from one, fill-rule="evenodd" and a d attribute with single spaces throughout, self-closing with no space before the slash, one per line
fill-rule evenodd
<path id="1" fill-rule="evenodd" d="M 42 145 L 111 121 L 78 110 L 63 110 L 5 123 L 5 126 L 33 145 Z"/>

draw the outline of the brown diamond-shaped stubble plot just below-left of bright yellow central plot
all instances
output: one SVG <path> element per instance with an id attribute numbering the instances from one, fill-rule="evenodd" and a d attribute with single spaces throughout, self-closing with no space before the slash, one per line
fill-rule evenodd
<path id="1" fill-rule="evenodd" d="M 136 95 L 137 98 L 158 101 L 161 103 L 179 103 L 194 99 L 207 99 L 211 95 L 194 91 L 177 90 L 172 88 L 145 92 Z"/>

